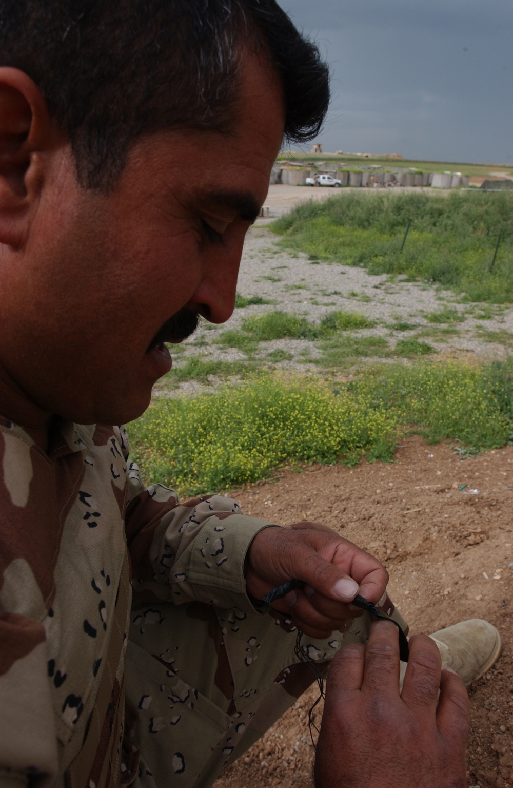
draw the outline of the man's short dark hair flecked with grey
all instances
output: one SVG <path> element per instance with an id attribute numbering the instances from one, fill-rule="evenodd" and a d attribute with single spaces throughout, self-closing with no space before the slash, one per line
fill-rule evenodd
<path id="1" fill-rule="evenodd" d="M 143 134 L 229 128 L 243 44 L 281 78 L 285 139 L 313 139 L 328 68 L 275 0 L 0 0 L 0 65 L 39 86 L 84 188 L 111 188 Z"/>

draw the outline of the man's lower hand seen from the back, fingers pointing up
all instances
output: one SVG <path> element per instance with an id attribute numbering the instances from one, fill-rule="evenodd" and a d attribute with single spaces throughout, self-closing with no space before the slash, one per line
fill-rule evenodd
<path id="1" fill-rule="evenodd" d="M 465 788 L 469 703 L 441 671 L 437 645 L 410 640 L 399 693 L 396 626 L 378 621 L 365 646 L 340 649 L 329 667 L 315 760 L 316 788 Z M 440 689 L 440 697 L 438 690 Z"/>

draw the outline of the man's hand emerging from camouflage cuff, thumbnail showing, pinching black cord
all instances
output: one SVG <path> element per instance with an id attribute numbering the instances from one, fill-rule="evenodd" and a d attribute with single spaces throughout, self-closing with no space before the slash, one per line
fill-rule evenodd
<path id="1" fill-rule="evenodd" d="M 273 603 L 273 608 L 290 616 L 310 637 L 325 638 L 333 630 L 344 631 L 362 615 L 349 604 L 357 593 L 373 602 L 383 596 L 388 573 L 369 553 L 315 522 L 259 531 L 247 552 L 247 592 L 262 599 L 292 579 L 307 585 Z"/>

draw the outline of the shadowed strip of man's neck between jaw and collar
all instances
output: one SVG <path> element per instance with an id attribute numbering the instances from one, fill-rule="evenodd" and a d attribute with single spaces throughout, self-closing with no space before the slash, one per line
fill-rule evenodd
<path id="1" fill-rule="evenodd" d="M 48 448 L 48 436 L 53 414 L 43 410 L 30 399 L 0 364 L 0 414 L 25 430 L 35 444 Z"/>

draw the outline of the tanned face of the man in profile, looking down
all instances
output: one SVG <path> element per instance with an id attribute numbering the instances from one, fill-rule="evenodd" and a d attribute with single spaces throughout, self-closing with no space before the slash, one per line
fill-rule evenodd
<path id="1" fill-rule="evenodd" d="M 0 321 L 3 366 L 39 407 L 84 423 L 136 418 L 169 370 L 163 340 L 191 333 L 196 314 L 232 314 L 284 125 L 272 72 L 250 54 L 244 65 L 231 134 L 144 138 L 110 195 L 76 185 L 69 148 L 56 157 L 23 265 L 6 269 Z"/>

